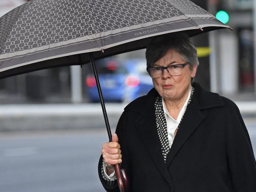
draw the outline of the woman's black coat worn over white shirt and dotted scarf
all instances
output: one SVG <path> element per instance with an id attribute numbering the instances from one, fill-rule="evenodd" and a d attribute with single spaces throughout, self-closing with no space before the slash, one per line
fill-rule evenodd
<path id="1" fill-rule="evenodd" d="M 256 192 L 256 162 L 239 109 L 231 100 L 193 86 L 166 163 L 154 115 L 156 90 L 124 109 L 116 133 L 131 191 Z M 107 191 L 119 191 L 99 175 Z"/>

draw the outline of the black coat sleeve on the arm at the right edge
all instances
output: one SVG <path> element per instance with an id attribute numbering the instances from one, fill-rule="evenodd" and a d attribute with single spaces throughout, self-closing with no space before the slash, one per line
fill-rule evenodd
<path id="1" fill-rule="evenodd" d="M 256 192 L 256 162 L 252 144 L 239 109 L 228 101 L 226 154 L 234 192 Z"/>

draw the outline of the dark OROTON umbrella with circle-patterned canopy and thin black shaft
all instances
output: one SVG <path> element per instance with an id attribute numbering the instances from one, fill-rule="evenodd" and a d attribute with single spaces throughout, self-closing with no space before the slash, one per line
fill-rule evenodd
<path id="1" fill-rule="evenodd" d="M 31 0 L 0 18 L 0 78 L 91 61 L 111 141 L 94 60 L 220 28 L 230 27 L 189 0 Z"/>

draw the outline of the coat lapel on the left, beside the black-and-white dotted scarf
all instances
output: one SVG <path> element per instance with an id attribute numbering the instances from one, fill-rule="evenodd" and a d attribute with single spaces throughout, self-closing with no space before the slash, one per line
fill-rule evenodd
<path id="1" fill-rule="evenodd" d="M 156 117 L 154 114 L 154 102 L 148 102 L 148 105 L 143 110 L 143 113 L 141 113 L 135 121 L 135 126 L 143 142 L 145 143 L 150 157 L 156 164 L 156 167 L 163 175 L 163 178 L 171 185 L 171 177 L 167 170 L 167 166 L 163 161 L 161 143 L 158 138 L 158 133 L 156 129 Z"/>

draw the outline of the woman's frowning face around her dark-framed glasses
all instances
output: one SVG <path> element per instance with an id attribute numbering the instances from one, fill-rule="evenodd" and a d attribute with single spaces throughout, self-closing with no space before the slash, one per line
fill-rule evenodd
<path id="1" fill-rule="evenodd" d="M 178 52 L 170 49 L 167 53 L 152 66 L 169 66 L 175 64 L 183 64 L 184 61 Z M 189 69 L 189 65 L 184 66 L 182 74 L 179 76 L 171 76 L 167 70 L 163 70 L 160 78 L 153 78 L 153 84 L 161 97 L 165 100 L 181 99 L 191 86 L 191 78 L 195 77 L 197 65 L 193 65 L 193 69 Z"/>

